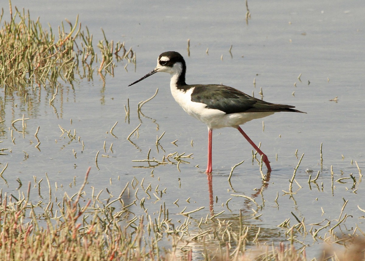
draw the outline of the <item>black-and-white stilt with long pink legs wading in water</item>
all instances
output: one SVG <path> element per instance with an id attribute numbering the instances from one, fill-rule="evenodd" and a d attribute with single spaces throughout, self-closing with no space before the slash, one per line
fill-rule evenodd
<path id="1" fill-rule="evenodd" d="M 170 89 L 176 102 L 189 115 L 208 126 L 208 166 L 207 173 L 212 172 L 212 131 L 216 128 L 233 127 L 247 139 L 261 155 L 262 161 L 271 172 L 268 157 L 251 141 L 239 127 L 253 119 L 263 118 L 278 111 L 298 111 L 295 106 L 274 104 L 256 99 L 235 88 L 219 84 L 186 84 L 186 64 L 178 52 L 163 52 L 158 56 L 157 66 L 131 86 L 156 72 L 168 72 L 171 75 Z M 303 112 L 305 113 L 305 112 Z"/>

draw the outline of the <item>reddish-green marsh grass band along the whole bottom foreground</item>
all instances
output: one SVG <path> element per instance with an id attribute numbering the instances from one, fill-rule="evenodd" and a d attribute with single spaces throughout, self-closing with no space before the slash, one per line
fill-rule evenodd
<path id="1" fill-rule="evenodd" d="M 306 245 L 296 248 L 295 244 L 306 235 L 328 242 L 318 260 L 364 257 L 362 237 L 341 238 L 333 233 L 343 221 L 346 203 L 338 218 L 342 221 L 334 226 L 304 224 L 304 219 L 300 221 L 292 213 L 297 221 L 293 226 L 290 218 L 278 226 L 285 231 L 287 243 L 270 242 L 265 240 L 265 233 L 270 232 L 246 222 L 249 216 L 241 213 L 238 219 L 227 221 L 219 218 L 224 212 L 221 211 L 201 217 L 199 222 L 191 214 L 204 207 L 184 212 L 185 208 L 176 222 L 161 201 L 166 189 L 157 186 L 153 190 L 151 184 L 144 184 L 144 179 L 133 178 L 117 196 L 106 189 L 109 197 L 103 199 L 103 191 L 90 192 L 87 187 L 90 170 L 78 185 L 78 191 L 75 187 L 76 193 L 69 195 L 65 191 L 60 199 L 48 178 L 48 188 L 41 188 L 42 180 L 36 183 L 42 199 L 36 203 L 30 201 L 32 190 L 37 189 L 37 186 L 32 189 L 31 182 L 25 193 L 19 190 L 18 196 L 0 191 L 0 260 L 193 260 L 193 255 L 200 253 L 205 260 L 300 261 L 307 260 Z M 75 179 L 73 184 L 77 185 Z M 48 197 L 42 196 L 42 191 L 48 191 Z M 147 205 L 156 202 L 161 203 L 160 210 L 150 213 Z M 141 214 L 136 214 L 138 206 L 141 211 L 137 212 Z M 315 235 L 313 227 L 306 229 L 309 225 L 319 228 Z M 328 233 L 323 239 L 318 233 L 322 229 Z M 340 245 L 342 249 L 338 248 Z"/>

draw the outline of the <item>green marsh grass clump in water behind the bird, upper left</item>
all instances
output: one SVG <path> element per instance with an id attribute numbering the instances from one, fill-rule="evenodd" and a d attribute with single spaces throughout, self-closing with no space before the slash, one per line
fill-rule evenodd
<path id="1" fill-rule="evenodd" d="M 12 11 L 9 1 L 10 21 L 3 21 L 4 9 L 1 11 L 0 23 L 0 82 L 7 90 L 18 90 L 24 95 L 24 88 L 46 86 L 56 88 L 59 80 L 72 84 L 76 75 L 92 79 L 93 64 L 100 62 L 97 71 L 104 78 L 106 73 L 114 75 L 114 59 L 135 63 L 135 54 L 128 51 L 124 43 L 104 39 L 97 47 L 100 59 L 92 45 L 92 35 L 88 28 L 82 31 L 81 23 L 62 22 L 57 32 L 50 27 L 44 28 L 39 18 L 34 21 L 29 11 Z M 126 64 L 126 65 L 127 65 Z"/>

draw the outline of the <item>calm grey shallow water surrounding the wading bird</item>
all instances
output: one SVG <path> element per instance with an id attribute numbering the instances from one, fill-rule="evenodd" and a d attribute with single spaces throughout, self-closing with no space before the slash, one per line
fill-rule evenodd
<path id="1" fill-rule="evenodd" d="M 262 216 L 246 221 L 268 231 L 262 235 L 262 241 L 285 240 L 283 230 L 277 226 L 287 218 L 291 218 L 293 225 L 296 221 L 291 212 L 300 220 L 304 217 L 306 224 L 338 218 L 343 199 L 349 200 L 344 212 L 352 217 L 346 220 L 341 231 L 351 234 L 356 226 L 364 231 L 364 213 L 357 207 L 365 209 L 364 187 L 355 164 L 356 161 L 360 169 L 364 169 L 365 7 L 362 1 L 249 1 L 251 19 L 248 24 L 242 1 L 231 1 L 229 5 L 221 1 L 133 1 L 127 4 L 106 1 L 103 5 L 97 1 L 79 1 L 75 5 L 69 1 L 61 8 L 48 1 L 13 1 L 12 4 L 30 9 L 32 19 L 39 16 L 44 27 L 49 22 L 54 30 L 64 18 L 74 22 L 80 14 L 79 21 L 94 35 L 95 46 L 103 39 L 102 27 L 108 39 L 125 41 L 126 46 L 133 48 L 137 53 L 137 69 L 134 71 L 132 64 L 128 64 L 126 72 L 125 63 L 121 62 L 115 68 L 114 78 L 106 76 L 105 88 L 97 74 L 91 82 L 79 80 L 74 87 L 63 84 L 54 108 L 49 105 L 51 95 L 48 97 L 45 90 L 28 92 L 26 103 L 17 95 L 4 96 L 1 92 L 0 113 L 1 119 L 5 119 L 0 124 L 1 145 L 11 150 L 1 156 L 2 167 L 8 163 L 4 179 L 0 180 L 3 193 L 18 193 L 17 178 L 23 185 L 29 181 L 34 185 L 34 176 L 38 182 L 47 173 L 51 185 L 57 184 L 57 193 L 72 194 L 73 190 L 78 190 L 77 186 L 69 186 L 74 176 L 81 182 L 88 166 L 92 166 L 90 188 L 99 191 L 107 187 L 112 194 L 119 194 L 133 177 L 138 181 L 145 178 L 144 184 L 159 185 L 161 190 L 167 188 L 161 199 L 170 213 L 178 213 L 185 206 L 187 211 L 204 206 L 191 215 L 198 222 L 211 211 L 223 210 L 219 218 L 237 222 L 240 209 L 250 215 L 255 206 L 231 194 L 254 197 L 263 205 L 259 210 Z M 7 10 L 7 6 L 4 9 Z M 152 70 L 158 55 L 168 50 L 184 56 L 188 84 L 223 83 L 255 97 L 260 97 L 262 87 L 266 101 L 291 104 L 307 112 L 276 113 L 242 126 L 254 142 L 261 142 L 262 151 L 272 162 L 273 171 L 266 183 L 261 181 L 257 161 L 252 160 L 250 145 L 238 131 L 224 128 L 213 132 L 213 210 L 204 173 L 206 126 L 176 104 L 170 94 L 167 74 L 156 74 L 127 87 Z M 150 98 L 156 88 L 159 88 L 157 96 L 143 105 L 139 119 L 138 102 Z M 335 97 L 338 101 L 330 101 Z M 123 108 L 128 98 L 129 123 L 124 121 Z M 15 123 L 17 129 L 11 125 L 23 114 L 24 118 L 30 118 L 24 134 L 21 122 Z M 109 131 L 117 121 L 113 136 Z M 131 137 L 132 144 L 126 137 L 141 122 L 139 136 Z M 62 134 L 58 125 L 71 133 L 75 130 L 76 137 L 84 141 L 84 149 L 81 142 Z M 38 126 L 40 151 L 34 147 Z M 164 131 L 160 145 L 156 146 L 156 136 L 160 137 Z M 172 144 L 176 139 L 176 145 Z M 176 151 L 193 153 L 193 158 L 186 159 L 188 163 L 180 163 L 180 171 L 176 161 L 156 167 L 148 167 L 146 162 L 132 162 L 146 159 L 149 149 L 150 157 L 159 160 Z M 96 166 L 97 151 L 100 153 Z M 29 157 L 25 157 L 24 152 Z M 296 181 L 302 188 L 294 183 L 296 194 L 285 195 L 282 190 L 288 191 L 288 179 L 303 153 L 296 173 Z M 245 162 L 234 170 L 231 187 L 227 182 L 231 167 L 242 160 Z M 332 190 L 331 166 L 334 180 L 353 173 L 356 186 L 352 187 L 352 180 L 346 180 L 345 184 L 335 182 Z M 317 183 L 308 184 L 307 169 L 313 171 L 312 179 L 320 171 Z M 355 189 L 356 193 L 351 193 Z M 33 194 L 33 200 L 37 201 L 37 191 Z M 227 208 L 225 203 L 229 198 L 232 199 Z M 173 204 L 176 199 L 179 199 L 178 205 Z M 161 202 L 151 202 L 150 211 L 158 211 Z M 132 206 L 131 211 L 139 214 L 143 210 L 137 205 Z M 308 236 L 298 240 L 311 246 L 307 248 L 308 257 L 317 256 L 321 249 L 318 242 Z"/>

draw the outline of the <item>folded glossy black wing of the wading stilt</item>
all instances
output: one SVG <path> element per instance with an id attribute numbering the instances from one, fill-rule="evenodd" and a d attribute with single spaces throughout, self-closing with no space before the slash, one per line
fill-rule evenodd
<path id="1" fill-rule="evenodd" d="M 216 84 L 195 85 L 191 100 L 207 104 L 207 108 L 224 111 L 226 114 L 264 111 L 302 112 L 292 109 L 295 106 L 265 102 L 235 88 Z"/>

